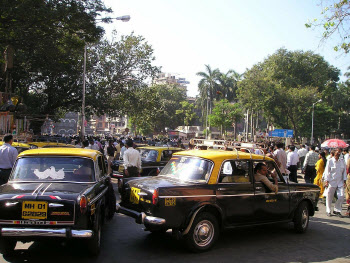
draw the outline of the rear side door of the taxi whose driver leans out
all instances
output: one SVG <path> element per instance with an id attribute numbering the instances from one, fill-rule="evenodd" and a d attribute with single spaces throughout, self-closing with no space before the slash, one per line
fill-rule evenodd
<path id="1" fill-rule="evenodd" d="M 224 161 L 217 183 L 217 203 L 227 225 L 254 221 L 254 185 L 248 160 Z"/>

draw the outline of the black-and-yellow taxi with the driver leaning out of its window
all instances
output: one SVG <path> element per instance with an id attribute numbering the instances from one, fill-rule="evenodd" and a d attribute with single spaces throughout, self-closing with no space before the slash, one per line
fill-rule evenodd
<path id="1" fill-rule="evenodd" d="M 265 163 L 277 173 L 278 192 L 254 180 Z M 239 151 L 178 152 L 157 177 L 125 179 L 117 212 L 151 232 L 172 229 L 194 251 L 212 247 L 227 227 L 293 222 L 305 232 L 320 189 L 285 181 L 273 159 Z"/>

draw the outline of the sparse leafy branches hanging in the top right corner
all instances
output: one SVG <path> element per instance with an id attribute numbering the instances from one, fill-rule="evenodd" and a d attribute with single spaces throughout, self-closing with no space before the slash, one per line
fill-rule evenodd
<path id="1" fill-rule="evenodd" d="M 334 34 L 340 38 L 334 47 L 335 51 L 342 50 L 344 53 L 350 51 L 350 3 L 348 0 L 322 1 L 325 7 L 321 12 L 320 20 L 314 19 L 305 24 L 307 28 L 322 28 L 322 40 L 326 41 Z"/>

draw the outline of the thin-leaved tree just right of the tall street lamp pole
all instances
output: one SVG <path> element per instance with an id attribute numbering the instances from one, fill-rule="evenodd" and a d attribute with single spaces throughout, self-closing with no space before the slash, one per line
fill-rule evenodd
<path id="1" fill-rule="evenodd" d="M 131 33 L 117 39 L 113 32 L 111 41 L 103 39 L 89 48 L 86 105 L 96 114 L 128 114 L 135 111 L 133 107 L 138 111 L 135 93 L 159 73 L 159 68 L 152 65 L 153 48 L 142 36 Z"/>

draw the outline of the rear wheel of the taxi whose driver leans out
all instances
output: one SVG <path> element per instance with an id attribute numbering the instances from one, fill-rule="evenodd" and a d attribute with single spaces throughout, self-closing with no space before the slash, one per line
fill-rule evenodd
<path id="1" fill-rule="evenodd" d="M 188 248 L 193 252 L 209 250 L 219 237 L 217 218 L 208 212 L 196 216 L 190 231 L 185 236 Z"/>

